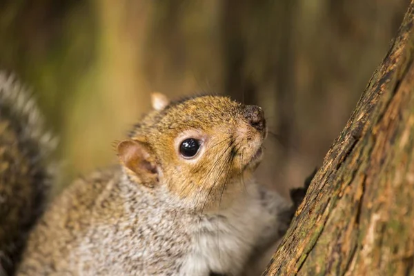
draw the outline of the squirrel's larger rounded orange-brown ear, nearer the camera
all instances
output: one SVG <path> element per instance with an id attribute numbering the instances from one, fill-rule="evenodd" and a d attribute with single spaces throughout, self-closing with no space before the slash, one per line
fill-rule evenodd
<path id="1" fill-rule="evenodd" d="M 132 176 L 146 186 L 154 186 L 158 182 L 158 171 L 155 157 L 148 147 L 136 140 L 121 141 L 117 146 L 121 163 L 133 172 Z"/>

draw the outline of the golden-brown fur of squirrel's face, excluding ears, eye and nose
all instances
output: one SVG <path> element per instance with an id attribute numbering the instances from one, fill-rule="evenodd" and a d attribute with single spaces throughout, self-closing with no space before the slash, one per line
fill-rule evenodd
<path id="1" fill-rule="evenodd" d="M 182 135 L 182 139 L 206 139 L 204 146 L 208 150 L 194 164 L 181 159 L 177 152 L 179 135 L 186 131 L 190 133 Z M 163 172 L 162 181 L 172 192 L 205 208 L 218 207 L 220 199 L 225 205 L 230 195 L 237 194 L 235 189 L 242 188 L 226 184 L 235 177 L 250 175 L 255 166 L 250 164 L 246 168 L 246 164 L 262 145 L 265 135 L 249 125 L 241 103 L 228 97 L 204 96 L 152 111 L 135 128 L 131 138 L 144 141 L 148 152 L 155 152 L 157 166 Z"/>

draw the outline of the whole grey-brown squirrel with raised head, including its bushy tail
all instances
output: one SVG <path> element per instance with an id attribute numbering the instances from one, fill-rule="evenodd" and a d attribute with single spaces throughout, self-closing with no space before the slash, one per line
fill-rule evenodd
<path id="1" fill-rule="evenodd" d="M 152 110 L 115 146 L 119 164 L 75 180 L 43 212 L 53 147 L 16 90 L 0 78 L 3 274 L 262 273 L 297 207 L 253 177 L 268 133 L 262 108 L 153 93 Z M 15 172 L 3 169 L 10 164 Z"/>

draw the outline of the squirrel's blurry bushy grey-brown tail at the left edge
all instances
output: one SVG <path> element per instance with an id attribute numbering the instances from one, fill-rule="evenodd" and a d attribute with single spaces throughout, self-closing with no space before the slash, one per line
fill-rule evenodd
<path id="1" fill-rule="evenodd" d="M 0 72 L 0 276 L 14 273 L 43 212 L 55 144 L 28 91 Z"/>

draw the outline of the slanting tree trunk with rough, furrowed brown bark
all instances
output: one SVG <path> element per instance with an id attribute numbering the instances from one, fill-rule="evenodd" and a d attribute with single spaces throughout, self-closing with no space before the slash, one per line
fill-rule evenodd
<path id="1" fill-rule="evenodd" d="M 414 275 L 414 0 L 263 275 Z"/>

